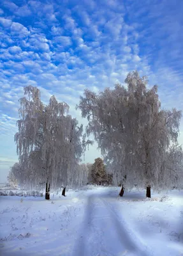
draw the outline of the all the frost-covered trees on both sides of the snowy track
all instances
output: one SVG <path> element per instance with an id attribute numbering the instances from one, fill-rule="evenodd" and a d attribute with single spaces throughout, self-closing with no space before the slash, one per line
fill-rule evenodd
<path id="1" fill-rule="evenodd" d="M 157 86 L 147 88 L 147 77 L 131 72 L 124 86 L 95 93 L 84 91 L 77 109 L 87 118 L 86 134 L 76 118 L 68 115 L 69 106 L 54 96 L 46 106 L 40 91 L 24 88 L 20 99 L 20 120 L 15 134 L 19 163 L 11 168 L 9 179 L 23 187 L 82 186 L 121 184 L 132 188 L 165 189 L 183 182 L 183 153 L 178 145 L 181 111 L 161 108 Z M 94 135 L 104 158 L 94 164 L 80 164 L 80 157 Z M 106 170 L 110 170 L 107 173 Z"/>

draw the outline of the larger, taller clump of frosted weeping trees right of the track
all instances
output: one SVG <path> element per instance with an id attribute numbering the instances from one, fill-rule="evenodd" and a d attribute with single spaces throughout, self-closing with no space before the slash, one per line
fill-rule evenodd
<path id="1" fill-rule="evenodd" d="M 182 148 L 178 147 L 181 111 L 161 109 L 157 86 L 131 72 L 125 85 L 95 93 L 85 90 L 77 109 L 87 118 L 115 185 L 170 188 L 182 182 Z M 178 184 L 179 183 L 179 184 Z M 123 193 L 121 193 L 123 195 Z"/>

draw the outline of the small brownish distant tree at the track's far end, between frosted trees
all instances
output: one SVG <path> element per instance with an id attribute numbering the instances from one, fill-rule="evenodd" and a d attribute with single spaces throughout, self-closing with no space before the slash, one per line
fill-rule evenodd
<path id="1" fill-rule="evenodd" d="M 106 171 L 105 164 L 103 163 L 103 159 L 100 157 L 94 160 L 94 164 L 92 164 L 92 180 L 96 184 L 103 184 L 106 182 Z"/>

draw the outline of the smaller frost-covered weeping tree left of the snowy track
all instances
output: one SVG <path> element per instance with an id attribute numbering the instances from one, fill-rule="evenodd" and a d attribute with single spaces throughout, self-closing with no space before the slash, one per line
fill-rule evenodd
<path id="1" fill-rule="evenodd" d="M 57 102 L 52 96 L 49 104 L 44 105 L 40 90 L 33 86 L 24 87 L 24 94 L 28 99 L 20 99 L 15 134 L 17 154 L 21 164 L 29 161 L 29 175 L 41 175 L 46 186 L 45 198 L 49 199 L 50 186 L 73 182 L 73 165 L 80 161 L 91 141 L 85 141 L 83 126 L 78 127 L 77 120 L 68 115 L 68 104 Z"/>

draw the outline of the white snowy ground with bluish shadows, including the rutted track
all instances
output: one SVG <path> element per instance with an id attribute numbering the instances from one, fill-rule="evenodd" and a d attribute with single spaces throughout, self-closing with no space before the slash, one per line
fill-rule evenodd
<path id="1" fill-rule="evenodd" d="M 183 191 L 152 191 L 151 199 L 145 191 L 118 193 L 96 187 L 50 201 L 1 196 L 1 255 L 183 255 Z"/>

